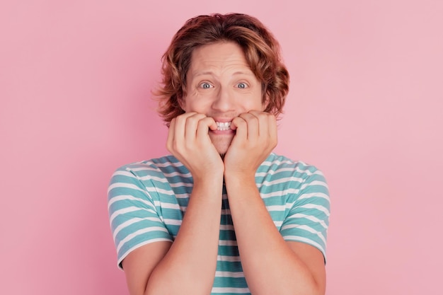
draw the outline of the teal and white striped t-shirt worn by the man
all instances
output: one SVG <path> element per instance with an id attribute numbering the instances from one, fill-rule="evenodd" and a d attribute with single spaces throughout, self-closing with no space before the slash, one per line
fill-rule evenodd
<path id="1" fill-rule="evenodd" d="M 321 171 L 270 154 L 255 173 L 255 183 L 284 240 L 313 245 L 326 259 L 330 203 Z M 108 188 L 108 210 L 119 267 L 142 245 L 174 241 L 191 192 L 192 175 L 174 156 L 132 163 L 115 171 Z M 250 294 L 225 187 L 218 251 L 211 294 Z"/>

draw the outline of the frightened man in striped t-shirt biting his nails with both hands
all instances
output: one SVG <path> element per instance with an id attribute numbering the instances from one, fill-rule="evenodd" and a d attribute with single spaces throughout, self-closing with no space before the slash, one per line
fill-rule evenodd
<path id="1" fill-rule="evenodd" d="M 118 169 L 110 224 L 130 294 L 324 294 L 328 188 L 277 156 L 289 75 L 242 14 L 190 19 L 163 56 L 171 156 Z"/>

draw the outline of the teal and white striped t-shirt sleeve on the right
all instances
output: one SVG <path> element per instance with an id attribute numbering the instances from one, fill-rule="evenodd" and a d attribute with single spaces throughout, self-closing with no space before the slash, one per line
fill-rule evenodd
<path id="1" fill-rule="evenodd" d="M 297 198 L 282 223 L 285 241 L 307 243 L 323 253 L 326 262 L 326 236 L 329 226 L 330 199 L 326 180 L 320 170 L 304 175 Z"/>

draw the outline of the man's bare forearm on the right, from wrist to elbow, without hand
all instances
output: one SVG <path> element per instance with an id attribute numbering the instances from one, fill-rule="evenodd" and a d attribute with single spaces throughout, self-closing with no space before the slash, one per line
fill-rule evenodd
<path id="1" fill-rule="evenodd" d="M 277 231 L 253 178 L 226 178 L 241 265 L 254 295 L 324 294 L 304 262 Z"/>

